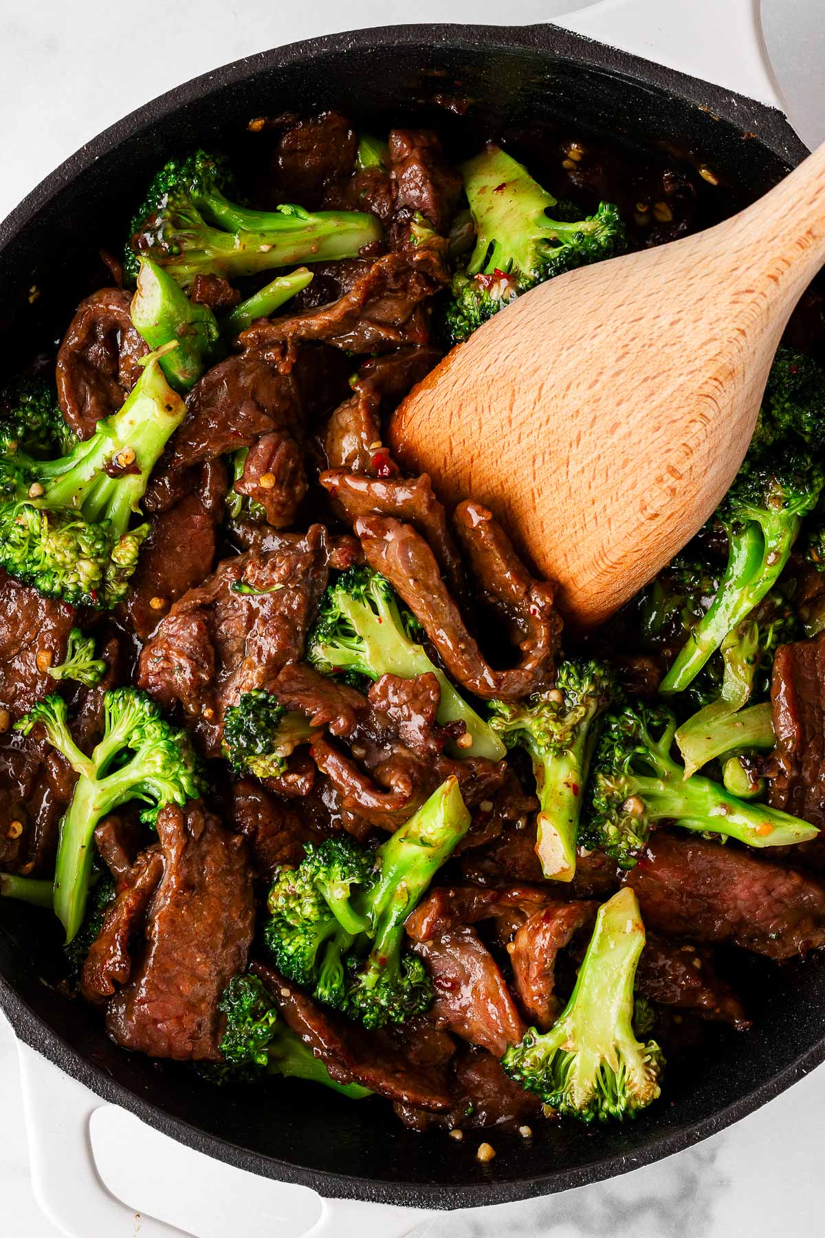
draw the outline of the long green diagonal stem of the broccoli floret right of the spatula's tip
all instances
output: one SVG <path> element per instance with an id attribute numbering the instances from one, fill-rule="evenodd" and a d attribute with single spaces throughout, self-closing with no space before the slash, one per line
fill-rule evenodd
<path id="1" fill-rule="evenodd" d="M 773 588 L 798 532 L 799 517 L 779 515 L 772 519 L 767 513 L 761 514 L 758 521 L 751 520 L 743 529 L 730 532 L 727 567 L 716 597 L 663 678 L 662 696 L 684 692 L 731 629 L 747 619 Z"/>

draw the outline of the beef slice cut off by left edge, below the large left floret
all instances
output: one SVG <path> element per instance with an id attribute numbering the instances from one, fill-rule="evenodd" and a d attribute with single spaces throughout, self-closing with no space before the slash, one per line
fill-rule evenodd
<path id="1" fill-rule="evenodd" d="M 0 708 L 16 722 L 49 692 L 49 666 L 66 660 L 75 612 L 0 569 Z"/>

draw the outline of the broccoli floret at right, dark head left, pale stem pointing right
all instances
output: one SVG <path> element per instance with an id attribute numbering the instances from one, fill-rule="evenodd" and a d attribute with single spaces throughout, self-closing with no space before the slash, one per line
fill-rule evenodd
<path id="1" fill-rule="evenodd" d="M 735 714 L 729 725 L 746 727 L 746 716 L 767 706 Z M 769 719 L 768 719 L 769 721 Z M 737 838 L 748 847 L 785 847 L 808 842 L 819 831 L 776 808 L 737 800 L 719 782 L 685 770 L 670 756 L 675 718 L 664 706 L 632 702 L 605 718 L 592 763 L 589 805 L 580 841 L 601 848 L 632 868 L 646 847 L 651 826 L 669 820 L 685 829 Z M 738 734 L 753 745 L 752 737 Z M 726 748 L 737 747 L 729 742 Z M 725 750 L 725 749 L 722 749 Z"/>

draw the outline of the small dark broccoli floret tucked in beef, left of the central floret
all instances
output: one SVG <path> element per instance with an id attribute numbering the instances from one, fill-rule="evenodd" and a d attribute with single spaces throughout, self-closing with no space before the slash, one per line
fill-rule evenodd
<path id="1" fill-rule="evenodd" d="M 235 774 L 277 777 L 296 748 L 315 734 L 302 713 L 284 709 L 271 692 L 254 688 L 224 714 L 224 755 Z"/>

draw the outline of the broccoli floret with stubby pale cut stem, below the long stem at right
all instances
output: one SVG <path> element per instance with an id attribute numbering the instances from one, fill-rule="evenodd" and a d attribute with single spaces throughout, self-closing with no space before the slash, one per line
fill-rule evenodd
<path id="1" fill-rule="evenodd" d="M 772 589 L 751 615 L 727 634 L 719 654 L 714 655 L 693 685 L 694 688 L 698 685 L 704 687 L 703 681 L 714 678 L 715 690 L 706 692 L 703 708 L 677 730 L 677 745 L 685 763 L 686 776 L 727 750 L 719 745 L 731 728 L 736 729 L 733 717 L 753 696 L 767 692 L 774 654 L 779 645 L 797 639 L 798 628 L 797 615 L 788 599 L 778 589 Z M 721 662 L 721 680 L 716 662 Z M 740 721 L 738 725 L 753 732 L 752 723 Z M 757 728 L 757 732 L 759 742 L 756 747 L 773 748 L 771 727 Z"/>

